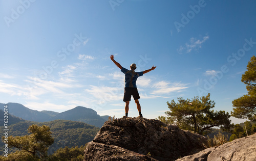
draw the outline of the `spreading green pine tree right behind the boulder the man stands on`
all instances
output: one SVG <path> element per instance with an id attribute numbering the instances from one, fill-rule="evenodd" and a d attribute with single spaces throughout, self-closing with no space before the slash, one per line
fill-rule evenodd
<path id="1" fill-rule="evenodd" d="M 214 108 L 215 102 L 210 100 L 210 94 L 201 98 L 194 97 L 193 100 L 178 98 L 178 103 L 172 100 L 167 102 L 167 105 L 170 110 L 165 112 L 167 117 L 159 117 L 159 119 L 175 123 L 181 129 L 203 134 L 215 126 L 222 129 L 230 128 L 231 120 L 229 120 L 228 113 L 211 110 Z"/>

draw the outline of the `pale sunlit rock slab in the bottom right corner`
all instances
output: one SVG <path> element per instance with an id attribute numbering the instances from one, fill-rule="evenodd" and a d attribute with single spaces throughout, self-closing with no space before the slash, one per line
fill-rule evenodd
<path id="1" fill-rule="evenodd" d="M 185 156 L 176 161 L 255 161 L 256 160 L 256 134 L 249 137 L 233 140 L 221 146 L 200 151 L 194 155 Z"/>

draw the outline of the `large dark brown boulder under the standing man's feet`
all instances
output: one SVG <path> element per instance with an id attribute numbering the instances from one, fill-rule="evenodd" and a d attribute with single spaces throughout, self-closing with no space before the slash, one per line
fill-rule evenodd
<path id="1" fill-rule="evenodd" d="M 84 160 L 175 160 L 204 149 L 206 138 L 159 120 L 106 121 L 88 143 Z"/>

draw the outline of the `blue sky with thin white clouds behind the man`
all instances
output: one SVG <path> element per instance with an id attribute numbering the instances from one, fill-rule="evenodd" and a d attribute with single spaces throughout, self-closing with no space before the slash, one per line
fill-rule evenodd
<path id="1" fill-rule="evenodd" d="M 205 96 L 232 111 L 256 53 L 255 1 L 0 1 L 0 102 L 124 115 L 123 78 L 136 71 L 145 118 L 167 101 Z M 134 101 L 130 117 L 137 117 Z M 243 122 L 232 118 L 233 123 Z"/>

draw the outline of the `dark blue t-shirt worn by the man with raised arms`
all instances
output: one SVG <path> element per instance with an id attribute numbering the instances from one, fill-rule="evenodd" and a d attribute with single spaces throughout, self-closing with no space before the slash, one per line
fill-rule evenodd
<path id="1" fill-rule="evenodd" d="M 135 72 L 133 70 L 128 70 L 122 67 L 121 72 L 125 74 L 124 87 L 137 88 L 136 86 L 137 78 L 143 75 L 143 71 Z"/>

